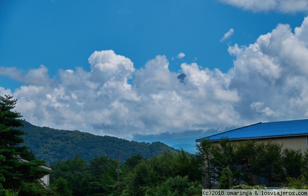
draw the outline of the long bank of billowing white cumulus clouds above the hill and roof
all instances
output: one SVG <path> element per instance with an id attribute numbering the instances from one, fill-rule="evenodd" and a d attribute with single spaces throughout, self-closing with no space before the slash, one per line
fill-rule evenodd
<path id="1" fill-rule="evenodd" d="M 45 66 L 23 73 L 0 73 L 24 82 L 0 94 L 18 99 L 16 110 L 36 125 L 79 129 L 132 139 L 134 135 L 221 129 L 258 121 L 308 116 L 308 19 L 292 32 L 278 25 L 249 46 L 230 46 L 236 57 L 227 73 L 182 63 L 169 71 L 164 55 L 134 69 L 114 51 L 95 51 L 90 71 L 59 70 L 49 78 Z"/>

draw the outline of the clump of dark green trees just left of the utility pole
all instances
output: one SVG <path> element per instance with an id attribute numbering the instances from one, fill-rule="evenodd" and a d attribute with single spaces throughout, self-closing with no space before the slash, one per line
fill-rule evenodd
<path id="1" fill-rule="evenodd" d="M 90 160 L 90 165 L 87 165 L 83 158 L 75 156 L 72 160 L 60 160 L 51 167 L 54 171 L 50 175 L 50 181 L 52 186 L 57 187 L 58 191 L 62 187 L 63 190 L 71 190 L 71 194 L 75 196 L 103 196 L 112 195 L 114 189 L 119 190 L 119 185 L 115 185 L 117 173 L 114 172 L 117 169 L 117 160 L 106 156 L 95 157 Z M 121 167 L 121 169 L 123 168 Z M 64 182 L 64 179 L 66 182 Z M 62 193 L 63 191 L 59 192 Z M 65 194 L 68 195 L 69 191 L 66 191 Z"/>

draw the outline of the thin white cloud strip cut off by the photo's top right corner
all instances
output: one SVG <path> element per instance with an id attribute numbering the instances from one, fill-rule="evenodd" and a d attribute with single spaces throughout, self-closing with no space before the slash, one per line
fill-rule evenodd
<path id="1" fill-rule="evenodd" d="M 306 12 L 308 2 L 306 0 L 220 0 L 229 5 L 233 5 L 245 10 L 269 11 L 277 10 L 283 13 Z"/>

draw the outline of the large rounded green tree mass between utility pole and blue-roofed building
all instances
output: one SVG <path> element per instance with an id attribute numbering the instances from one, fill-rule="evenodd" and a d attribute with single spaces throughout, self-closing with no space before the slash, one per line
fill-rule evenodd
<path id="1" fill-rule="evenodd" d="M 162 155 L 143 160 L 133 168 L 125 179 L 127 186 L 122 195 L 168 195 L 168 191 L 174 192 L 171 195 L 179 195 L 177 191 L 181 192 L 180 195 L 191 195 L 188 194 L 190 190 L 185 190 L 188 191 L 185 193 L 180 189 L 187 189 L 192 185 L 198 187 L 199 191 L 202 189 L 201 179 L 196 174 L 201 173 L 200 165 L 197 163 L 196 157 L 184 150 L 179 153 L 165 150 Z M 177 182 L 182 184 L 176 185 Z M 195 189 L 194 187 L 191 191 Z M 161 193 L 154 194 L 154 192 Z"/>

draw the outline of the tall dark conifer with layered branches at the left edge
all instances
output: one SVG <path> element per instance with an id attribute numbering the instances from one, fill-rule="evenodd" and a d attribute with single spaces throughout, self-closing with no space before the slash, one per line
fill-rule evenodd
<path id="1" fill-rule="evenodd" d="M 31 182 L 40 179 L 49 171 L 38 166 L 44 161 L 33 160 L 33 154 L 28 151 L 28 147 L 21 146 L 24 142 L 22 135 L 25 133 L 18 127 L 23 126 L 22 115 L 12 112 L 17 99 L 12 96 L 0 96 L 0 155 L 5 161 L 0 165 L 0 172 L 5 178 L 3 188 L 18 189 L 22 181 Z M 31 158 L 29 162 L 21 162 L 17 155 Z"/>

